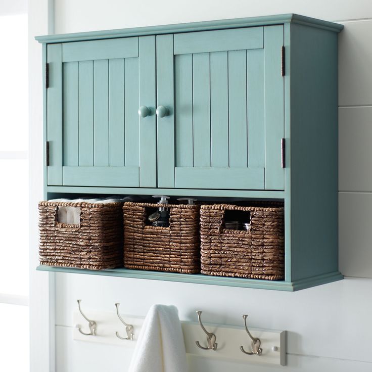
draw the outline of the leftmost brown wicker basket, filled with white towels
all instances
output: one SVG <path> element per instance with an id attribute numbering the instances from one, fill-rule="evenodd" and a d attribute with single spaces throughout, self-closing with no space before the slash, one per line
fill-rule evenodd
<path id="1" fill-rule="evenodd" d="M 122 267 L 122 205 L 40 202 L 40 264 L 93 270 Z M 58 222 L 59 207 L 80 208 L 80 224 Z"/>

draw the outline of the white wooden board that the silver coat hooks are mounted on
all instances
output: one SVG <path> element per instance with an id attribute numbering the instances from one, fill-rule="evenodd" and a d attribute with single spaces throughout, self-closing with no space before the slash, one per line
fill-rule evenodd
<path id="1" fill-rule="evenodd" d="M 84 304 L 81 305 L 84 309 L 84 314 L 89 319 L 96 323 L 96 335 L 84 335 L 79 332 L 80 329 L 89 329 L 89 324 L 79 311 L 74 312 L 73 321 L 75 324 L 73 337 L 77 341 L 86 341 L 94 343 L 121 345 L 124 348 L 134 348 L 138 335 L 140 334 L 144 317 L 124 315 L 121 313 L 120 318 L 113 305 L 112 312 L 98 312 L 94 310 L 85 309 Z M 122 306 L 121 311 L 124 311 Z M 260 340 L 260 354 L 242 352 L 241 346 L 246 351 L 255 351 L 257 343 L 254 343 L 247 335 L 247 331 L 242 322 L 242 326 L 224 325 L 205 322 L 208 314 L 203 314 L 203 324 L 208 330 L 208 333 L 215 335 L 214 342 L 218 342 L 218 347 L 215 349 L 202 349 L 196 345 L 196 341 L 200 341 L 202 345 L 206 344 L 206 333 L 201 328 L 198 322 L 181 321 L 182 332 L 186 352 L 204 357 L 222 358 L 237 360 L 247 363 L 259 364 L 276 364 L 286 365 L 286 331 L 267 330 L 259 328 L 251 328 L 248 325 L 249 332 L 254 339 Z M 237 318 L 241 320 L 241 315 L 237 314 Z M 131 337 L 128 339 L 119 338 L 117 334 L 124 333 L 125 323 L 132 327 L 130 329 Z"/>

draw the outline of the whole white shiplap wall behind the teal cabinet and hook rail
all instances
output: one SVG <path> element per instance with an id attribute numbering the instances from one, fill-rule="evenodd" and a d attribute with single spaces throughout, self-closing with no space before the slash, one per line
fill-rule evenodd
<path id="1" fill-rule="evenodd" d="M 114 311 L 114 303 L 120 302 L 123 313 L 136 315 L 146 315 L 153 303 L 174 304 L 182 320 L 196 320 L 195 310 L 202 309 L 205 318 L 216 323 L 241 324 L 241 314 L 249 313 L 254 327 L 288 330 L 288 366 L 255 366 L 258 372 L 372 370 L 370 0 L 189 0 L 182 3 L 174 0 L 55 0 L 55 31 L 66 33 L 282 13 L 298 13 L 345 25 L 340 34 L 339 79 L 340 270 L 346 275 L 345 280 L 283 293 L 57 274 L 58 372 L 125 371 L 130 360 L 130 353 L 120 347 L 73 342 L 72 314 L 78 298 L 83 299 L 84 309 Z M 35 68 L 39 74 L 39 67 Z M 41 79 L 40 75 L 37 78 Z M 34 100 L 38 110 L 40 104 L 38 94 Z M 39 120 L 33 130 L 40 142 Z M 34 165 L 38 175 L 39 164 Z M 192 357 L 189 361 L 193 372 L 228 369 L 243 372 L 251 368 L 247 364 L 212 358 Z"/>

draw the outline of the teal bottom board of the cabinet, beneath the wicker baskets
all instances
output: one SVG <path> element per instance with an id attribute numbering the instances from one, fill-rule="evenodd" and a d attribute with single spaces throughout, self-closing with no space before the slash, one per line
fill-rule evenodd
<path id="1" fill-rule="evenodd" d="M 339 272 L 333 272 L 325 275 L 307 278 L 298 283 L 291 283 L 286 281 L 264 281 L 256 279 L 246 279 L 238 277 L 224 277 L 224 276 L 209 276 L 203 274 L 180 274 L 173 272 L 161 271 L 145 271 L 145 270 L 131 270 L 125 268 L 107 269 L 107 270 L 87 270 L 77 269 L 72 267 L 57 267 L 57 266 L 37 266 L 38 271 L 51 272 L 65 272 L 73 274 L 90 274 L 90 275 L 104 275 L 104 276 L 118 276 L 129 277 L 136 279 L 150 279 L 167 282 L 182 282 L 194 284 L 209 284 L 215 286 L 227 287 L 243 287 L 243 288 L 257 288 L 270 289 L 280 291 L 296 291 L 304 288 L 313 287 L 315 285 L 330 283 L 341 280 L 343 276 Z"/>

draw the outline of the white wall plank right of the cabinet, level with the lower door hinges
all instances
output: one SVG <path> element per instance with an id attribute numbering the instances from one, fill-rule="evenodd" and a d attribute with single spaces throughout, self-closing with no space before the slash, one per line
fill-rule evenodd
<path id="1" fill-rule="evenodd" d="M 372 191 L 372 107 L 339 109 L 339 190 Z"/>

